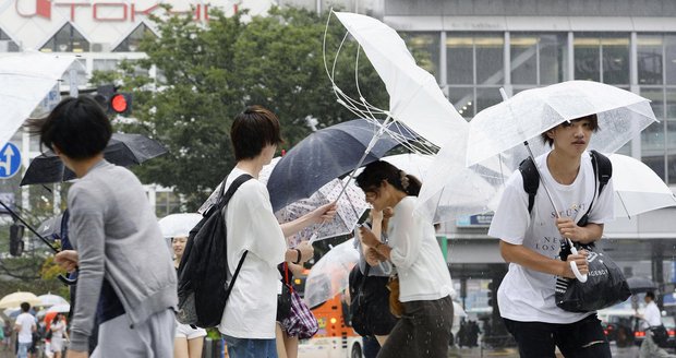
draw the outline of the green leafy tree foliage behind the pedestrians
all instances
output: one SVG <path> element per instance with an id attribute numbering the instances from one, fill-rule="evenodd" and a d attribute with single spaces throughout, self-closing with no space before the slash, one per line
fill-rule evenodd
<path id="1" fill-rule="evenodd" d="M 245 21 L 246 19 L 246 21 Z M 134 170 L 144 182 L 172 187 L 195 210 L 234 165 L 229 129 L 248 105 L 270 108 L 280 118 L 283 148 L 310 133 L 306 118 L 318 128 L 354 116 L 336 102 L 324 64 L 333 67 L 346 29 L 328 13 L 271 9 L 266 16 L 209 13 L 207 25 L 189 16 L 155 19 L 160 36 L 141 45 L 147 59 L 126 62 L 116 75 L 133 91 L 136 121 L 119 126 L 160 141 L 168 155 Z M 346 40 L 336 62 L 337 84 L 353 98 L 357 44 Z M 157 68 L 157 77 L 138 67 Z M 110 80 L 95 74 L 93 82 Z M 366 57 L 359 57 L 359 85 L 370 103 L 387 108 L 387 93 Z M 290 183 L 291 184 L 291 183 Z"/>

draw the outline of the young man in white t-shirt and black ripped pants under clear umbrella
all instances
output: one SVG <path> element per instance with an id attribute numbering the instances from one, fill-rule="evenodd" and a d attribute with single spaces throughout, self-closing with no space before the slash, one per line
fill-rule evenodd
<path id="1" fill-rule="evenodd" d="M 569 255 L 567 262 L 558 258 L 564 238 L 580 243 L 599 240 L 604 223 L 614 216 L 612 179 L 599 195 L 587 152 L 596 130 L 597 119 L 592 115 L 542 133 L 553 150 L 535 158 L 541 182 L 532 212 L 517 170 L 507 181 L 488 230 L 490 236 L 500 239 L 500 253 L 509 263 L 497 294 L 500 315 L 524 358 L 554 357 L 555 346 L 565 357 L 611 357 L 595 312 L 564 311 L 554 299 L 556 276 L 575 278 L 570 261 L 582 274 L 589 271 L 584 250 Z M 589 224 L 578 226 L 590 205 Z"/>

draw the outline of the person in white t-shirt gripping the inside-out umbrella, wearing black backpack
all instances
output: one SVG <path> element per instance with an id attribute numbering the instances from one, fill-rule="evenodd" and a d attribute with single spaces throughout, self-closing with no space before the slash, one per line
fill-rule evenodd
<path id="1" fill-rule="evenodd" d="M 236 271 L 243 253 L 249 253 L 231 286 L 218 330 L 225 336 L 231 358 L 277 357 L 275 318 L 277 295 L 281 293 L 277 265 L 283 261 L 303 263 L 314 252 L 307 241 L 287 249 L 285 238 L 309 225 L 333 219 L 336 205 L 319 206 L 290 223 L 277 222 L 267 188 L 255 179 L 282 143 L 279 119 L 270 110 L 261 106 L 245 108 L 232 122 L 230 140 L 237 164 L 227 176 L 224 189 L 228 190 L 242 175 L 254 179 L 241 184 L 224 214 L 230 272 Z"/>

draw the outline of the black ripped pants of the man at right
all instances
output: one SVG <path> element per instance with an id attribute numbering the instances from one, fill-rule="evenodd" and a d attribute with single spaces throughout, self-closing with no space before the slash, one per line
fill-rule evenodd
<path id="1" fill-rule="evenodd" d="M 504 320 L 521 358 L 554 358 L 555 346 L 566 358 L 612 357 L 596 314 L 568 324 Z"/>

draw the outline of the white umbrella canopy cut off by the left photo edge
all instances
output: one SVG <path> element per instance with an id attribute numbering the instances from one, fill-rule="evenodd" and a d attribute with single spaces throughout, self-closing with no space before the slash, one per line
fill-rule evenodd
<path id="1" fill-rule="evenodd" d="M 74 56 L 33 51 L 0 58 L 0 147 L 14 135 L 73 61 Z"/>

